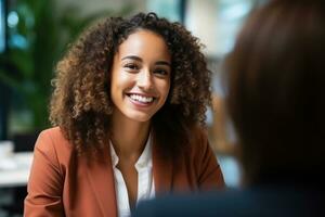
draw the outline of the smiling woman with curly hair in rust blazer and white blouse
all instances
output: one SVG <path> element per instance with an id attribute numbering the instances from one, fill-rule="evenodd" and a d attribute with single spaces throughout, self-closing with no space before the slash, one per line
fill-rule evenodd
<path id="1" fill-rule="evenodd" d="M 168 192 L 222 188 L 197 38 L 154 13 L 87 29 L 57 64 L 25 216 L 129 216 Z"/>

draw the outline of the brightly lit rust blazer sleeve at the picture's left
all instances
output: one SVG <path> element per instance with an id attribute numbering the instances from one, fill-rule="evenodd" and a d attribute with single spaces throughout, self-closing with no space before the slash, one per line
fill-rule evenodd
<path id="1" fill-rule="evenodd" d="M 50 131 L 37 139 L 27 186 L 24 216 L 64 216 L 62 193 L 64 176 Z"/>

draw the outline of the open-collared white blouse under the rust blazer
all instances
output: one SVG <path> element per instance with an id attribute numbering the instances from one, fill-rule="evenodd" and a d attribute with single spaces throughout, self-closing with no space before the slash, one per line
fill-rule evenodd
<path id="1" fill-rule="evenodd" d="M 120 170 L 116 167 L 118 164 L 118 156 L 110 142 L 112 166 L 115 177 L 115 190 L 117 200 L 117 212 L 119 217 L 131 216 L 129 195 L 125 179 Z M 136 204 L 146 199 L 155 196 L 155 184 L 153 179 L 153 154 L 152 154 L 152 140 L 148 138 L 145 148 L 135 163 L 138 171 L 138 195 Z"/>

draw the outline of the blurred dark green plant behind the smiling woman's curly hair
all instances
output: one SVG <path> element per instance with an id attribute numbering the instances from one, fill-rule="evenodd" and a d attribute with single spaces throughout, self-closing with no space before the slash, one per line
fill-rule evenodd
<path id="1" fill-rule="evenodd" d="M 1 56 L 0 81 L 17 92 L 32 115 L 30 129 L 49 126 L 48 104 L 51 94 L 50 80 L 53 69 L 66 46 L 94 20 L 112 15 L 113 11 L 101 11 L 89 16 L 80 16 L 79 9 L 70 5 L 64 11 L 55 10 L 54 0 L 17 1 L 16 26 L 10 28 L 10 39 L 18 37 L 21 44 L 10 40 L 9 50 Z M 126 5 L 118 14 L 129 13 Z M 23 41 L 22 41 L 23 40 Z"/>

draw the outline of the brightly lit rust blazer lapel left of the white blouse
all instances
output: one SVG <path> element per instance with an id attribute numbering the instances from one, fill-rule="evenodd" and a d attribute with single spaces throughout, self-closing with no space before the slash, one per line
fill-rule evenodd
<path id="1" fill-rule="evenodd" d="M 115 194 L 115 179 L 112 168 L 109 149 L 102 159 L 87 164 L 87 177 L 93 190 L 102 215 L 117 216 L 117 202 Z"/>

